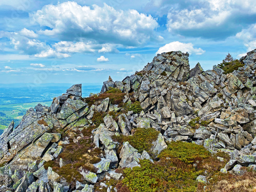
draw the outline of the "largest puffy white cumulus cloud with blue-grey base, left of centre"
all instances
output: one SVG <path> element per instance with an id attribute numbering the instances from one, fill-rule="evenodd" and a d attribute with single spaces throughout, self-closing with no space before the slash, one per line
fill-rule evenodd
<path id="1" fill-rule="evenodd" d="M 46 5 L 30 16 L 40 26 L 51 28 L 40 31 L 41 34 L 58 35 L 65 40 L 87 37 L 130 46 L 143 44 L 158 27 L 151 15 L 136 10 L 115 10 L 106 4 L 93 5 L 92 9 L 75 2 Z"/>

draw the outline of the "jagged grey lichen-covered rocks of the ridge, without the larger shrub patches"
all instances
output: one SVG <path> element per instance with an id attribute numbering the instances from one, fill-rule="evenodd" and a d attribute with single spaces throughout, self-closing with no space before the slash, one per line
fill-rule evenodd
<path id="1" fill-rule="evenodd" d="M 193 142 L 212 154 L 229 154 L 222 172 L 241 174 L 242 166 L 255 168 L 256 50 L 240 59 L 244 67 L 227 75 L 217 66 L 203 71 L 200 63 L 190 70 L 188 56 L 180 51 L 158 54 L 135 75 L 105 81 L 100 94 L 90 97 L 95 99 L 92 104 L 81 97 L 81 84 L 75 84 L 54 98 L 50 107 L 38 104 L 28 110 L 16 129 L 11 123 L 1 135 L 0 164 L 8 162 L 0 168 L 1 191 L 94 191 L 95 183 L 103 178 L 122 178 L 114 171 L 117 167 L 140 166 L 140 159 L 153 162 L 168 141 Z M 123 105 L 110 97 L 97 100 L 113 88 L 120 90 Z M 140 102 L 142 111 L 124 112 L 124 106 L 134 101 Z M 95 126 L 95 114 L 103 115 L 99 126 Z M 93 163 L 94 170 L 79 167 L 83 182 L 77 180 L 73 186 L 52 167 L 45 169 L 44 164 L 53 160 L 65 166 L 59 156 L 66 145 L 79 143 L 86 136 L 77 132 L 92 126 L 88 138 L 100 148 L 100 160 Z M 113 139 L 150 127 L 160 132 L 150 151 L 139 153 L 129 142 Z M 103 182 L 99 185 L 116 190 Z"/>

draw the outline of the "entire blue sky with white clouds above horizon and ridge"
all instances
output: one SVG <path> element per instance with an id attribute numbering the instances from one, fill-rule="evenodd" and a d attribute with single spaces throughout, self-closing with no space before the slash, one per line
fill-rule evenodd
<path id="1" fill-rule="evenodd" d="M 1 0 L 0 83 L 102 83 L 157 53 L 211 69 L 256 48 L 255 0 Z"/>

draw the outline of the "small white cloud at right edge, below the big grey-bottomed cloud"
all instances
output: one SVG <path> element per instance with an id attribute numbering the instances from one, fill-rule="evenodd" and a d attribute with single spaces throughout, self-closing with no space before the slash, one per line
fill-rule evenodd
<path id="1" fill-rule="evenodd" d="M 237 33 L 237 38 L 242 39 L 247 51 L 256 49 L 256 24 Z"/>

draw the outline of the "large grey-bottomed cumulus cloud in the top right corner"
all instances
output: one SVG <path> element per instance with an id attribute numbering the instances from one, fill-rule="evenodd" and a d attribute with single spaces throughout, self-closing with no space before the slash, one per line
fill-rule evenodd
<path id="1" fill-rule="evenodd" d="M 169 32 L 188 36 L 203 36 L 223 38 L 236 34 L 240 25 L 247 25 L 245 15 L 256 14 L 256 1 L 248 0 L 206 0 L 186 1 L 188 6 L 179 1 L 177 6 L 170 9 L 167 15 Z"/>

